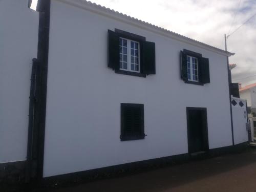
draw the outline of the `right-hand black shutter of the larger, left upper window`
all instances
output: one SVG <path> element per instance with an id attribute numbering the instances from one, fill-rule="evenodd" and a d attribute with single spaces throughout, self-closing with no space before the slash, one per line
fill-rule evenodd
<path id="1" fill-rule="evenodd" d="M 156 74 L 156 48 L 155 42 L 142 42 L 142 65 L 143 73 L 146 75 Z"/>

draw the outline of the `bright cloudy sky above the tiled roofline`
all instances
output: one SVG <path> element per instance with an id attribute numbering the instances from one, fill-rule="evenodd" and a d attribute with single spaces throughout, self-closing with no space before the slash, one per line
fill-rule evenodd
<path id="1" fill-rule="evenodd" d="M 91 2 L 225 49 L 230 34 L 256 13 L 256 0 L 91 0 Z M 256 16 L 227 39 L 236 53 L 229 63 L 233 82 L 256 82 Z"/>

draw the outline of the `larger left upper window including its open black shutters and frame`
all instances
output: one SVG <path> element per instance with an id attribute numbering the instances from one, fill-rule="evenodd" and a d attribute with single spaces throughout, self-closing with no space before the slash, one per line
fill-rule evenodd
<path id="1" fill-rule="evenodd" d="M 108 67 L 124 75 L 156 74 L 155 42 L 119 29 L 108 30 Z"/>

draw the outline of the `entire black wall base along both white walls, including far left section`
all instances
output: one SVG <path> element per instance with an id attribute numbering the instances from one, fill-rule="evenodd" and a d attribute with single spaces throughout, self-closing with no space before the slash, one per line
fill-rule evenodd
<path id="1" fill-rule="evenodd" d="M 148 170 L 166 167 L 175 164 L 187 163 L 189 161 L 197 161 L 206 158 L 212 158 L 224 154 L 240 153 L 246 150 L 251 150 L 248 147 L 248 142 L 238 145 L 231 145 L 221 148 L 215 148 L 205 153 L 196 155 L 181 154 L 169 157 L 162 157 L 157 159 L 150 159 L 145 161 L 138 161 L 133 163 L 126 163 L 121 165 L 97 168 L 92 170 L 86 170 L 82 172 L 70 173 L 59 176 L 52 176 L 43 178 L 41 181 L 32 182 L 29 185 L 23 185 L 26 188 L 34 187 L 58 187 L 58 186 L 71 186 L 77 183 L 86 183 L 104 178 L 121 177 L 125 175 L 146 172 Z M 25 183 L 25 167 L 26 161 L 18 161 L 11 163 L 0 164 L 0 186 L 2 185 L 14 185 Z M 25 190 L 26 191 L 26 190 Z"/>

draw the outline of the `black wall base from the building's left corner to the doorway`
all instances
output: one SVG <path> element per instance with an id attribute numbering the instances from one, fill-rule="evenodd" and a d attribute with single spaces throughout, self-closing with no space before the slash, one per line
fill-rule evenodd
<path id="1" fill-rule="evenodd" d="M 75 172 L 65 175 L 52 176 L 42 179 L 44 186 L 56 185 L 72 185 L 80 182 L 90 182 L 104 178 L 121 177 L 140 172 L 146 172 L 159 167 L 168 165 L 181 164 L 189 161 L 188 154 L 175 155 L 170 157 L 163 157 L 157 159 L 150 159 L 145 161 L 137 161 L 133 163 L 125 163 L 109 167 L 85 170 L 82 172 Z"/>

